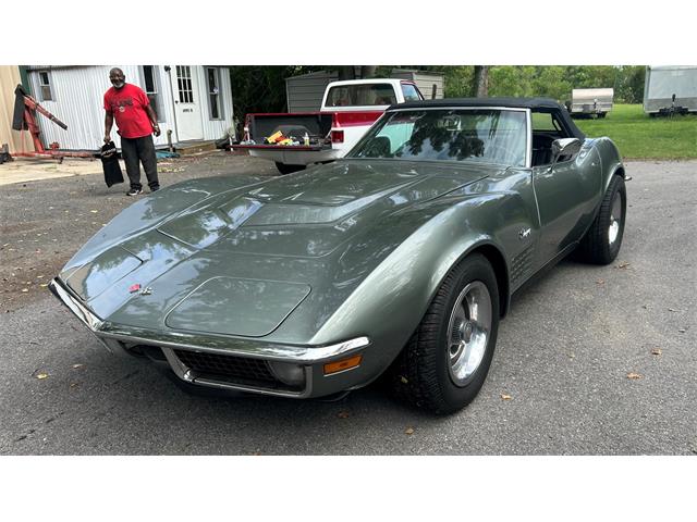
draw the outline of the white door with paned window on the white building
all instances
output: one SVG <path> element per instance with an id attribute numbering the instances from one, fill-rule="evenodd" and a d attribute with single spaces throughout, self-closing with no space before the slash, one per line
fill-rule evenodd
<path id="1" fill-rule="evenodd" d="M 174 117 L 180 141 L 204 139 L 198 80 L 191 65 L 176 65 L 172 75 L 174 92 Z"/>

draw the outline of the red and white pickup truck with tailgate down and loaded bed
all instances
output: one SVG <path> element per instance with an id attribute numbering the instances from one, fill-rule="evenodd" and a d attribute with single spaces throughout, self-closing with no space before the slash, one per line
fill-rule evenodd
<path id="1" fill-rule="evenodd" d="M 423 99 L 404 79 L 332 82 L 319 112 L 247 114 L 244 139 L 232 147 L 274 161 L 288 174 L 343 158 L 388 107 Z"/>

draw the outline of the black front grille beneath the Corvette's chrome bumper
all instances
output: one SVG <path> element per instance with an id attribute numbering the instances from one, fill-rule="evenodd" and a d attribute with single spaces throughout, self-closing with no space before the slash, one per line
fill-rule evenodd
<path id="1" fill-rule="evenodd" d="M 200 377 L 264 388 L 288 388 L 279 382 L 266 361 L 203 351 L 174 350 L 176 357 Z"/>

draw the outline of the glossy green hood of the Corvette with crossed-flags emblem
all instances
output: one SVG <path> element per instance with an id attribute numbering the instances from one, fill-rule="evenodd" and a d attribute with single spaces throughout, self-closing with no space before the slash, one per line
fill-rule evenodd
<path id="1" fill-rule="evenodd" d="M 355 160 L 233 188 L 219 178 L 218 190 L 207 181 L 203 200 L 101 250 L 93 241 L 61 278 L 101 319 L 138 327 L 261 337 L 304 309 L 299 341 L 428 219 L 414 209 L 500 170 Z"/>

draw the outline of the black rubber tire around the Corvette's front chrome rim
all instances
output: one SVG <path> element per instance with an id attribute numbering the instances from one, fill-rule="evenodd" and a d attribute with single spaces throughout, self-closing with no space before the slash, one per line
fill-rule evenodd
<path id="1" fill-rule="evenodd" d="M 480 345 L 485 348 L 478 365 L 457 382 L 453 375 L 451 321 L 462 293 L 472 285 L 479 289 L 486 287 L 488 291 L 490 325 L 486 344 Z M 491 264 L 481 254 L 468 256 L 448 274 L 416 332 L 388 370 L 392 394 L 438 414 L 453 413 L 467 406 L 479 393 L 489 372 L 499 330 L 499 290 Z M 467 322 L 470 321 L 469 314 Z M 472 336 L 472 330 L 469 332 Z"/>

